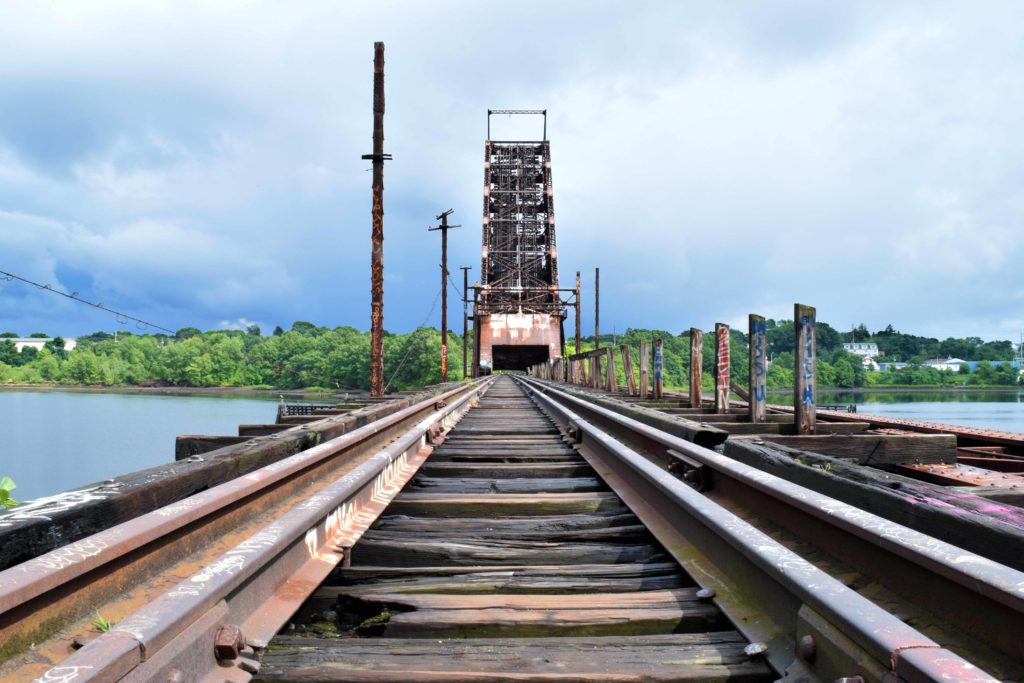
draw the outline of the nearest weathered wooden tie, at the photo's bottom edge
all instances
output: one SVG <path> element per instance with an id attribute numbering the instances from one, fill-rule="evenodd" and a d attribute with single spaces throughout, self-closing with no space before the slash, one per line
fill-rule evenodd
<path id="1" fill-rule="evenodd" d="M 395 681 L 770 681 L 733 631 L 631 638 L 303 639 L 279 637 L 256 680 Z"/>

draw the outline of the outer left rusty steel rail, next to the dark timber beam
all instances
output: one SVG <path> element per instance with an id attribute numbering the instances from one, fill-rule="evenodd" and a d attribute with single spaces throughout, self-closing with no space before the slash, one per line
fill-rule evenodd
<path id="1" fill-rule="evenodd" d="M 190 554 L 268 514 L 288 497 L 308 497 L 325 476 L 352 466 L 423 415 L 451 413 L 447 400 L 480 383 L 410 405 L 276 463 L 0 571 L 0 650 L 4 658 L 92 614 L 96 605 L 141 588 Z M 465 394 L 459 399 L 460 394 Z M 438 410 L 440 409 L 440 410 Z M 342 457 L 345 456 L 345 457 Z M 270 512 L 269 514 L 274 514 Z M 74 586 L 74 591 L 68 587 Z"/>

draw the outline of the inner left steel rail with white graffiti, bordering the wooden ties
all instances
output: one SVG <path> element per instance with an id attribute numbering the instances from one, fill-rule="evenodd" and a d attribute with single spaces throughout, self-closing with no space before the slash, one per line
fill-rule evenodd
<path id="1" fill-rule="evenodd" d="M 429 455 L 488 388 L 419 422 L 379 453 L 203 566 L 38 681 L 242 681 L 287 623 Z M 246 635 L 243 635 L 246 634 Z"/>

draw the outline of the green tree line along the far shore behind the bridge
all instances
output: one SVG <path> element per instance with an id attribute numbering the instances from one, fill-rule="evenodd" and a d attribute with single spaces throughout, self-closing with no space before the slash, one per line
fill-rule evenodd
<path id="1" fill-rule="evenodd" d="M 770 388 L 793 386 L 792 321 L 766 322 Z M 817 372 L 819 386 L 958 386 L 1012 385 L 1017 371 L 1009 365 L 982 362 L 973 373 L 943 372 L 934 368 L 908 367 L 899 372 L 869 372 L 861 358 L 843 349 L 849 341 L 874 342 L 885 353 L 882 359 L 920 362 L 929 357 L 956 356 L 966 360 L 1010 360 L 1014 347 L 1010 341 L 984 342 L 977 337 L 937 339 L 918 337 L 888 326 L 874 334 L 864 326 L 839 332 L 826 323 L 817 324 Z M 63 349 L 59 337 L 42 350 L 26 347 L 18 352 L 8 332 L 0 334 L 0 383 L 54 383 L 99 386 L 246 386 L 281 389 L 319 388 L 329 390 L 366 390 L 370 378 L 370 333 L 350 327 L 317 327 L 296 322 L 288 331 L 275 328 L 270 335 L 252 326 L 248 330 L 202 332 L 182 328 L 175 335 L 117 336 L 97 332 L 81 337 L 72 351 Z M 35 333 L 36 337 L 45 337 Z M 8 338 L 8 339 L 5 339 Z M 630 329 L 624 335 L 602 335 L 602 345 L 626 344 L 634 366 L 639 366 L 641 340 L 662 339 L 665 344 L 665 381 L 670 389 L 685 389 L 688 384 L 690 353 L 689 332 L 672 334 L 665 330 Z M 434 328 L 419 328 L 407 334 L 385 333 L 384 367 L 389 388 L 401 390 L 435 384 L 440 381 L 440 333 Z M 730 335 L 730 374 L 738 384 L 748 377 L 748 336 L 741 330 Z M 472 348 L 472 332 L 469 347 Z M 715 335 L 705 333 L 703 388 L 713 386 Z M 583 340 L 584 350 L 594 348 L 594 338 Z M 564 352 L 575 351 L 568 340 Z M 616 369 L 625 384 L 622 364 Z M 449 377 L 461 379 L 463 368 L 462 337 L 449 335 Z"/>

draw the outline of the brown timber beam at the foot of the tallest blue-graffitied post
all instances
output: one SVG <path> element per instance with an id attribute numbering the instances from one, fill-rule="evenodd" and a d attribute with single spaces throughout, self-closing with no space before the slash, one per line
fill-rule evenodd
<path id="1" fill-rule="evenodd" d="M 818 431 L 831 425 L 818 423 Z M 860 465 L 954 464 L 956 437 L 952 434 L 827 434 L 766 436 L 766 441 L 798 451 L 853 460 Z"/>

